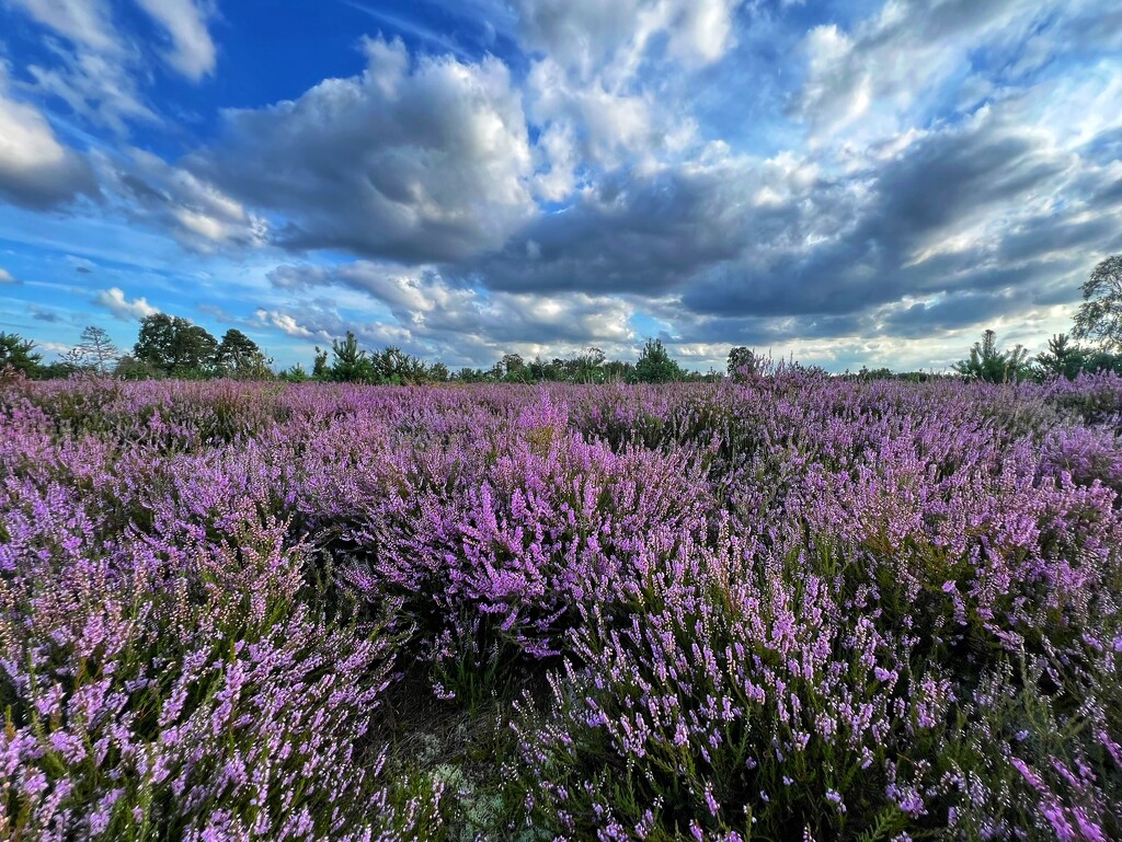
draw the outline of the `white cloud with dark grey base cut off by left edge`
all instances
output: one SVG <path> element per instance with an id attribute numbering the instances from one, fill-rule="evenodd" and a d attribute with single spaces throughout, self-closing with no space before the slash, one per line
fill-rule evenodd
<path id="1" fill-rule="evenodd" d="M 85 158 L 58 140 L 38 109 L 11 98 L 7 76 L 0 62 L 0 200 L 42 211 L 95 196 Z"/>

